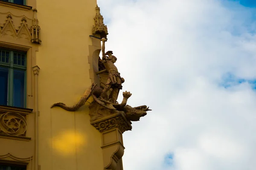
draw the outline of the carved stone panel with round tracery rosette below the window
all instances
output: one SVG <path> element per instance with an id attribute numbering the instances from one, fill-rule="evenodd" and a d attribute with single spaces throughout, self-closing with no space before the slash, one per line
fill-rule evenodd
<path id="1" fill-rule="evenodd" d="M 14 112 L 0 112 L 0 134 L 26 136 L 26 116 Z"/>

